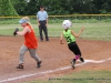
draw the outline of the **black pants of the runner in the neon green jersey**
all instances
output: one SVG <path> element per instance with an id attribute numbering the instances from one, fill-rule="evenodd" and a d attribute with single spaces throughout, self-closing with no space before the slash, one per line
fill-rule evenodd
<path id="1" fill-rule="evenodd" d="M 75 42 L 68 44 L 69 49 L 75 54 L 81 56 L 81 51 Z"/>

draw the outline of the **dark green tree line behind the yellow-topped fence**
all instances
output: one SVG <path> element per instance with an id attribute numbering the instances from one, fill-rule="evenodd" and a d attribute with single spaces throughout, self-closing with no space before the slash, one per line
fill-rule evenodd
<path id="1" fill-rule="evenodd" d="M 40 6 L 50 15 L 111 13 L 111 0 L 0 0 L 0 15 L 36 15 Z"/>

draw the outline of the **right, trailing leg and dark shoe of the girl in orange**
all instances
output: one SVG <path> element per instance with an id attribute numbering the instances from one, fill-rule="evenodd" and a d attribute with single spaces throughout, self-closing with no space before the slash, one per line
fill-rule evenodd
<path id="1" fill-rule="evenodd" d="M 38 68 L 40 68 L 41 60 L 36 52 L 37 52 L 37 49 L 29 49 L 30 55 L 37 61 Z"/>

